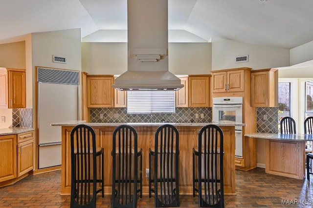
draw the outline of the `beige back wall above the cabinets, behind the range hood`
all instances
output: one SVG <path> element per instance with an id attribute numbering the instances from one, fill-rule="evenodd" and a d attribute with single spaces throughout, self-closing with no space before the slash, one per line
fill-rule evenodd
<path id="1" fill-rule="evenodd" d="M 211 43 L 169 43 L 169 71 L 173 74 L 210 74 Z M 127 70 L 127 43 L 82 43 L 82 71 L 122 74 Z"/>

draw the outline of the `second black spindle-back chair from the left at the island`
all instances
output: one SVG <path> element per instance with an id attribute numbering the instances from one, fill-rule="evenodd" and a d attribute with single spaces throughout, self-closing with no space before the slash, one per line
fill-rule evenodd
<path id="1" fill-rule="evenodd" d="M 130 125 L 120 125 L 113 131 L 112 208 L 135 208 L 138 192 L 141 197 L 142 149 L 137 147 L 136 130 Z"/>

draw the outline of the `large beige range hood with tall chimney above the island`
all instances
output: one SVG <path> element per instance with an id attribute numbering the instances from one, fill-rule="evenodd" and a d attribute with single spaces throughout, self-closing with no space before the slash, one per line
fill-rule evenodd
<path id="1" fill-rule="evenodd" d="M 168 71 L 168 1 L 128 0 L 128 70 L 113 88 L 179 90 L 184 85 Z"/>

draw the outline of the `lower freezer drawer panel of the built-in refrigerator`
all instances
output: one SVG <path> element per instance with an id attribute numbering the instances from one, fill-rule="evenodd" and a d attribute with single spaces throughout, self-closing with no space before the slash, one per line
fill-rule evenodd
<path id="1" fill-rule="evenodd" d="M 39 168 L 61 165 L 61 145 L 39 147 Z"/>

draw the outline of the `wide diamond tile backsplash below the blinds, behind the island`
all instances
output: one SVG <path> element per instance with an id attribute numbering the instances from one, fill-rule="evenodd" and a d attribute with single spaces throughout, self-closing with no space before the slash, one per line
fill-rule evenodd
<path id="1" fill-rule="evenodd" d="M 196 118 L 198 113 L 199 118 Z M 203 118 L 201 114 L 203 113 Z M 102 115 L 103 114 L 103 115 Z M 103 118 L 100 118 L 100 116 Z M 176 108 L 176 113 L 127 113 L 127 108 L 91 108 L 92 123 L 207 123 L 212 121 L 212 108 Z"/>

